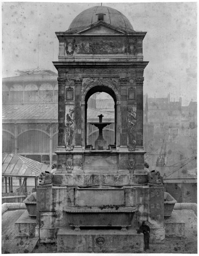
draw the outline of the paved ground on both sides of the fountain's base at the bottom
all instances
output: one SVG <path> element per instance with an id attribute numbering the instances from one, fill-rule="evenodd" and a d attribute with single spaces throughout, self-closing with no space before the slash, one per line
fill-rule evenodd
<path id="1" fill-rule="evenodd" d="M 14 222 L 25 210 L 5 212 L 2 216 L 2 254 L 56 253 L 55 244 L 38 244 L 37 239 L 15 239 Z M 185 222 L 185 237 L 166 238 L 162 244 L 150 244 L 144 254 L 197 254 L 197 217 L 191 210 L 176 210 Z"/>

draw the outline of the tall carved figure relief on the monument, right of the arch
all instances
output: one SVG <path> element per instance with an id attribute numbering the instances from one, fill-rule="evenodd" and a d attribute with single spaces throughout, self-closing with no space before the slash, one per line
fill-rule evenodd
<path id="1" fill-rule="evenodd" d="M 136 112 L 133 110 L 133 107 L 128 107 L 127 109 L 127 137 L 128 137 L 128 150 L 134 151 L 136 146 Z"/>

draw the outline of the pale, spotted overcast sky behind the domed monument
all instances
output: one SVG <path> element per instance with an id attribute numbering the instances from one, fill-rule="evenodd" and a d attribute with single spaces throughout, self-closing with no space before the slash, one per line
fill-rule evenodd
<path id="1" fill-rule="evenodd" d="M 197 3 L 102 3 L 122 12 L 134 30 L 147 31 L 143 41 L 144 94 L 179 97 L 183 105 L 197 100 Z M 40 68 L 56 72 L 55 31 L 66 31 L 83 10 L 100 3 L 2 3 L 2 77 L 17 69 Z M 39 38 L 39 58 L 38 58 Z M 38 61 L 39 60 L 39 61 Z"/>

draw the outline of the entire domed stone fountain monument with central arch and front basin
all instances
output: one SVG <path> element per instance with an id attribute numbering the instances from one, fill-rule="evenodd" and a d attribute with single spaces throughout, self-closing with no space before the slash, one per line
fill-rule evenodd
<path id="1" fill-rule="evenodd" d="M 103 20 L 102 20 L 103 16 Z M 151 241 L 162 242 L 164 188 L 148 185 L 143 148 L 143 61 L 146 32 L 106 6 L 85 10 L 59 39 L 57 170 L 40 175 L 36 235 L 58 252 L 141 253 L 142 221 Z M 88 99 L 106 92 L 114 100 L 115 143 L 107 149 L 99 129 L 87 145 Z"/>

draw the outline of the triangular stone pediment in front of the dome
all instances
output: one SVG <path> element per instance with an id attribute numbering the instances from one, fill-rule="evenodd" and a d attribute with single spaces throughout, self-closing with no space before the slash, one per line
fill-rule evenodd
<path id="1" fill-rule="evenodd" d="M 78 34 L 124 34 L 126 31 L 117 28 L 103 21 L 97 21 L 94 24 L 87 26 L 79 31 Z"/>

